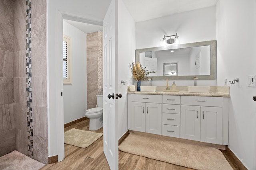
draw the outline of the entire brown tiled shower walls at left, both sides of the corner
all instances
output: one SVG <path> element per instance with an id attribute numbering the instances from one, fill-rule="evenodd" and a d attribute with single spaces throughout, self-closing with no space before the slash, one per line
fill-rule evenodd
<path id="1" fill-rule="evenodd" d="M 48 163 L 46 0 L 29 1 L 32 57 L 26 61 L 26 0 L 0 0 L 0 156 L 16 149 Z M 30 98 L 26 63 L 32 75 Z"/>

